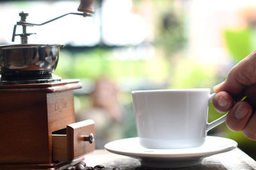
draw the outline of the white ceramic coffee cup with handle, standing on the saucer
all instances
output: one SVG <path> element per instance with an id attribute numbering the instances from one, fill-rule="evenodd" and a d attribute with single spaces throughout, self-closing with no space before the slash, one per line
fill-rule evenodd
<path id="1" fill-rule="evenodd" d="M 207 122 L 210 89 L 132 91 L 140 144 L 145 148 L 193 148 L 204 144 L 207 131 L 227 115 Z"/>

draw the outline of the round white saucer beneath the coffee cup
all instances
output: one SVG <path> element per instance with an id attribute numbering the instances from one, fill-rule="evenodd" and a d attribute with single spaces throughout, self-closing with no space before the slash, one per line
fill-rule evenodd
<path id="1" fill-rule="evenodd" d="M 204 157 L 228 152 L 237 147 L 236 141 L 227 138 L 207 136 L 204 145 L 186 149 L 148 149 L 140 145 L 138 138 L 112 141 L 106 150 L 119 155 L 139 159 L 147 167 L 189 167 L 201 164 Z"/>

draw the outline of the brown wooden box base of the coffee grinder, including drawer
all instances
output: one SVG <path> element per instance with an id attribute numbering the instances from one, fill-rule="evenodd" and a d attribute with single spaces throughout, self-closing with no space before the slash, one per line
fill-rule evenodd
<path id="1" fill-rule="evenodd" d="M 0 85 L 0 169 L 56 169 L 94 150 L 82 137 L 94 134 L 92 120 L 74 124 L 73 90 L 79 88 L 79 80 Z M 67 134 L 58 134 L 65 128 Z M 58 147 L 53 136 L 67 145 Z M 56 152 L 66 155 L 56 157 Z"/>

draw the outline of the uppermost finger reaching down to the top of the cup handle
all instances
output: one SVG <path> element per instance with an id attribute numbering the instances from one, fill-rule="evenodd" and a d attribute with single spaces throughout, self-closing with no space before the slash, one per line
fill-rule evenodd
<path id="1" fill-rule="evenodd" d="M 225 91 L 236 96 L 243 92 L 246 86 L 256 83 L 256 51 L 250 53 L 246 58 L 241 60 L 228 73 L 227 79 L 214 87 L 214 92 Z"/>

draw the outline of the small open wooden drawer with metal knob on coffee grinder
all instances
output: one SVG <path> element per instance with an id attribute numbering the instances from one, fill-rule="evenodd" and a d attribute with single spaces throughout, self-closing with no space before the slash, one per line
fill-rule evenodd
<path id="1" fill-rule="evenodd" d="M 67 132 L 67 134 L 66 134 Z M 53 161 L 70 161 L 95 149 L 93 120 L 67 125 L 67 129 L 52 132 Z"/>

